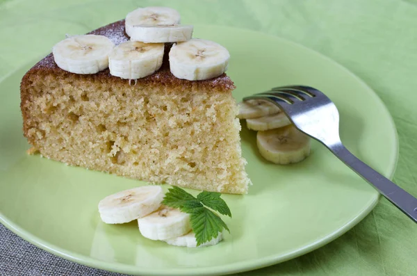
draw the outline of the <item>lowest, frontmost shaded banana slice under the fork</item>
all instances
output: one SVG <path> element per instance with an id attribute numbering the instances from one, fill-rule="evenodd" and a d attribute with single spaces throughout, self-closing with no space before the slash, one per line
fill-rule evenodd
<path id="1" fill-rule="evenodd" d="M 263 158 L 281 165 L 300 162 L 310 154 L 309 136 L 293 125 L 259 131 L 256 144 Z"/>

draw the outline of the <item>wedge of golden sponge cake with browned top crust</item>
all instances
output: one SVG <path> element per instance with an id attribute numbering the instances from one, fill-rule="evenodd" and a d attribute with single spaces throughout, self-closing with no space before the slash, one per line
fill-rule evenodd
<path id="1" fill-rule="evenodd" d="M 124 26 L 121 20 L 90 34 L 109 38 L 116 49 L 129 40 Z M 247 193 L 250 180 L 240 149 L 233 81 L 224 73 L 206 80 L 179 79 L 170 70 L 171 47 L 165 44 L 161 60 L 152 63 L 155 72 L 136 72 L 149 74 L 136 78 L 114 76 L 111 65 L 109 70 L 101 63 L 99 72 L 75 74 L 71 66 L 81 63 L 62 59 L 58 66 L 58 52 L 55 60 L 53 54 L 40 60 L 20 88 L 24 136 L 33 151 L 156 184 Z M 83 46 L 85 51 L 93 48 L 87 42 Z M 181 53 L 176 60 L 181 63 Z"/>

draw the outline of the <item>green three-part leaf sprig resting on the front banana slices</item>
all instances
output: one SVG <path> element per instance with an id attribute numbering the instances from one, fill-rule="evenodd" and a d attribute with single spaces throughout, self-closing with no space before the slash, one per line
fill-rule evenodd
<path id="1" fill-rule="evenodd" d="M 191 228 L 198 246 L 212 238 L 217 238 L 219 232 L 222 232 L 223 229 L 230 232 L 226 223 L 212 211 L 218 211 L 222 215 L 231 217 L 229 206 L 220 198 L 220 195 L 220 193 L 203 191 L 196 198 L 185 190 L 173 186 L 168 189 L 162 204 L 179 208 L 184 213 L 190 214 Z"/>

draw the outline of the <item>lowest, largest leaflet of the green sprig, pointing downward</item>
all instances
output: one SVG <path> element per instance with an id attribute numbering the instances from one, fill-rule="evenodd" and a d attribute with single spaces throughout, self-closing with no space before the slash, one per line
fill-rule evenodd
<path id="1" fill-rule="evenodd" d="M 217 238 L 219 232 L 222 232 L 223 229 L 230 232 L 226 223 L 204 206 L 193 209 L 190 222 L 197 240 L 197 246 L 210 241 L 212 238 Z"/>

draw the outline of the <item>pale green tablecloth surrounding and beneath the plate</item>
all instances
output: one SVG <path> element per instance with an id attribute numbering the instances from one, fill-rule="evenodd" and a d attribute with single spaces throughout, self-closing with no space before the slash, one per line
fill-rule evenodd
<path id="1" fill-rule="evenodd" d="M 177 8 L 183 23 L 279 35 L 347 67 L 393 115 L 400 138 L 394 181 L 417 195 L 417 0 L 0 0 L 0 79 L 47 54 L 63 34 L 86 33 L 138 6 Z M 382 199 L 329 245 L 242 275 L 417 275 L 416 259 L 417 225 Z"/>

